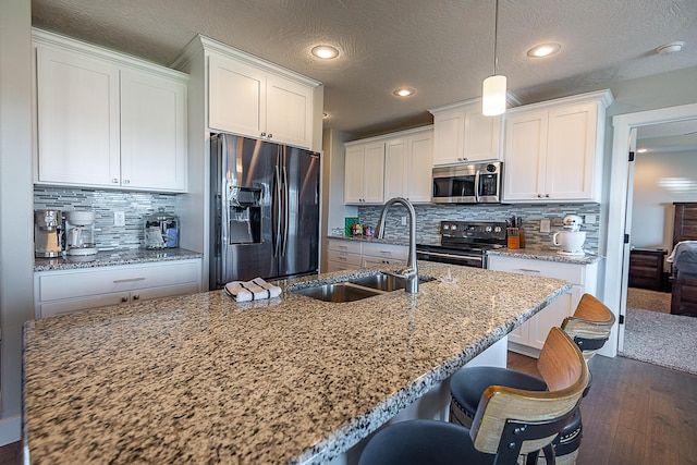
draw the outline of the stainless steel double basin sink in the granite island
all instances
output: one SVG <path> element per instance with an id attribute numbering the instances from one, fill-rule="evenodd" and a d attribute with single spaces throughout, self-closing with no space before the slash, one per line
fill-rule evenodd
<path id="1" fill-rule="evenodd" d="M 430 277 L 419 277 L 418 282 L 420 284 L 432 280 L 433 278 Z M 344 282 L 303 287 L 291 290 L 290 292 L 319 301 L 342 303 L 374 297 L 392 291 L 404 290 L 404 278 L 379 272 L 367 277 L 353 278 Z"/>

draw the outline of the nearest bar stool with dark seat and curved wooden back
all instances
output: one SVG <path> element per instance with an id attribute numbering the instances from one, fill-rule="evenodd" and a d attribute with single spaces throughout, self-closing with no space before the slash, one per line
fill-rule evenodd
<path id="1" fill-rule="evenodd" d="M 576 409 L 588 367 L 559 328 L 547 336 L 540 359 L 548 391 L 490 386 L 472 428 L 425 419 L 390 425 L 368 441 L 358 465 L 516 464 L 522 453 L 536 461 L 539 450 L 553 465 L 551 441 Z"/>

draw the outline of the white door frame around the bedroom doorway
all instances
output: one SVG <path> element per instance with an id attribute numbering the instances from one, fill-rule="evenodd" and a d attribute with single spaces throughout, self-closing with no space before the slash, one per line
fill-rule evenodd
<path id="1" fill-rule="evenodd" d="M 697 103 L 619 114 L 612 119 L 614 131 L 609 187 L 610 195 L 608 197 L 608 241 L 603 302 L 608 307 L 613 309 L 615 316 L 626 313 L 626 278 L 629 272 L 628 268 L 623 266 L 628 187 L 627 144 L 629 140 L 629 132 L 633 127 L 692 120 L 695 118 L 697 118 Z M 612 357 L 616 355 L 619 331 L 624 332 L 624 326 L 620 328 L 617 321 L 610 334 L 610 343 L 606 344 L 608 350 L 602 351 L 603 355 Z"/>

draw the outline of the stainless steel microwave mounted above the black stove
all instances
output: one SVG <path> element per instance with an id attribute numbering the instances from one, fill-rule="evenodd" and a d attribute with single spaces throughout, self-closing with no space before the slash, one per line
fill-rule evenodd
<path id="1" fill-rule="evenodd" d="M 457 164 L 433 168 L 435 204 L 499 204 L 503 163 Z"/>

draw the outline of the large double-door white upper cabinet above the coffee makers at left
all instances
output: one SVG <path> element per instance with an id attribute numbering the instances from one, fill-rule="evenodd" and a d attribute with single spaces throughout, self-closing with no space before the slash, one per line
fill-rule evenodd
<path id="1" fill-rule="evenodd" d="M 35 183 L 186 191 L 186 76 L 34 30 Z"/>

